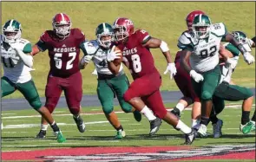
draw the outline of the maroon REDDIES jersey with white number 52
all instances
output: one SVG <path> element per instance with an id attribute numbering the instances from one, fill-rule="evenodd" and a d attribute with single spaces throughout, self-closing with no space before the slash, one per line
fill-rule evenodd
<path id="1" fill-rule="evenodd" d="M 80 29 L 71 29 L 64 40 L 56 38 L 53 30 L 46 30 L 36 43 L 41 51 L 49 51 L 49 75 L 69 77 L 79 71 L 80 44 L 85 36 Z"/>

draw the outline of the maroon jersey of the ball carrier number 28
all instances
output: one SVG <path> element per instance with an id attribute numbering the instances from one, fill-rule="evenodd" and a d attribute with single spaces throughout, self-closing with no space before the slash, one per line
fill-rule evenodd
<path id="1" fill-rule="evenodd" d="M 147 42 L 149 38 L 147 31 L 138 29 L 128 37 L 128 42 L 117 44 L 122 51 L 124 62 L 128 62 L 128 68 L 134 79 L 158 73 L 154 66 L 153 55 L 148 48 L 142 46 L 142 42 Z"/>

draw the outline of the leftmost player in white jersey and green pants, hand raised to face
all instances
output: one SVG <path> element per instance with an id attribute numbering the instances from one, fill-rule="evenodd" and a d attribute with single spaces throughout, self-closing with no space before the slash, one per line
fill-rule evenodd
<path id="1" fill-rule="evenodd" d="M 41 100 L 30 71 L 33 66 L 31 43 L 22 38 L 22 25 L 14 19 L 3 24 L 1 41 L 1 61 L 3 64 L 3 77 L 1 78 L 1 97 L 20 91 L 26 100 L 52 127 L 57 141 L 62 143 L 63 137 L 52 115 L 46 107 L 42 107 Z M 1 126 L 3 128 L 3 125 Z"/>

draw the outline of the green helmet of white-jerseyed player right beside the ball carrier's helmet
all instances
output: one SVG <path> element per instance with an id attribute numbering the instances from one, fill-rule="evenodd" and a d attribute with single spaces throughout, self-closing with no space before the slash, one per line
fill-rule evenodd
<path id="1" fill-rule="evenodd" d="M 96 28 L 95 35 L 97 36 L 97 42 L 103 47 L 108 49 L 113 42 L 114 30 L 108 23 L 101 23 Z M 104 36 L 104 37 L 103 37 Z"/>

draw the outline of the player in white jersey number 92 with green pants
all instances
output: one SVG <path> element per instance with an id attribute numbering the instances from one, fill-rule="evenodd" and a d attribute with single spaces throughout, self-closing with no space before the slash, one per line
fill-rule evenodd
<path id="1" fill-rule="evenodd" d="M 223 23 L 212 24 L 207 15 L 200 14 L 194 17 L 192 28 L 192 31 L 182 33 L 178 47 L 182 49 L 181 66 L 193 78 L 194 91 L 200 96 L 201 120 L 198 133 L 204 135 L 207 133 L 207 122 L 213 107 L 213 92 L 220 81 L 220 42 L 231 42 L 240 50 L 248 64 L 255 60 L 240 42 L 227 33 Z M 226 62 L 233 64 L 231 59 L 226 59 Z"/>

